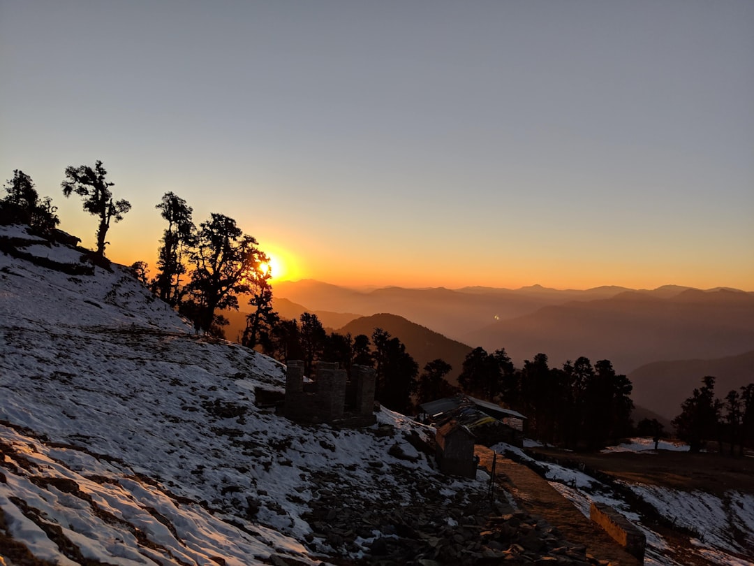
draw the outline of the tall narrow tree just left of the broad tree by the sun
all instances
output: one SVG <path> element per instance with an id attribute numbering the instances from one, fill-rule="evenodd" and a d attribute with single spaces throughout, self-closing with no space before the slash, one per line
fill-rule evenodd
<path id="1" fill-rule="evenodd" d="M 167 220 L 158 250 L 158 272 L 154 281 L 155 294 L 166 303 L 176 306 L 182 297 L 181 275 L 185 274 L 184 258 L 192 244 L 196 227 L 192 208 L 173 192 L 166 192 L 158 205 L 161 216 Z"/>

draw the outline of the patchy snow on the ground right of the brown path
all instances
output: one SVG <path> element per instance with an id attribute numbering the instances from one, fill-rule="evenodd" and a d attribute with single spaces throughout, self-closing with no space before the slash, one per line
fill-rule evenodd
<path id="1" fill-rule="evenodd" d="M 526 444 L 537 445 L 535 442 Z M 666 442 L 665 446 L 671 448 L 663 448 L 663 443 L 660 448 L 688 450 L 685 445 L 672 442 Z M 647 457 L 654 453 L 654 442 L 642 438 L 632 438 L 630 443 L 608 448 L 605 452 L 629 451 L 632 450 L 630 447 L 634 447 L 633 451 L 647 454 Z M 696 533 L 697 536 L 691 538 L 691 545 L 698 557 L 706 558 L 712 564 L 752 564 L 752 560 L 746 557 L 752 556 L 754 549 L 754 494 L 728 491 L 725 497 L 721 498 L 702 491 L 687 492 L 627 482 L 621 482 L 616 489 L 578 469 L 535 460 L 520 448 L 509 444 L 496 444 L 492 449 L 501 454 L 509 454 L 518 461 L 536 461 L 538 466 L 545 469 L 544 475 L 550 481 L 550 485 L 571 500 L 587 517 L 590 515 L 592 502 L 605 503 L 621 512 L 646 536 L 645 564 L 684 566 L 685 561 L 660 534 L 644 524 L 644 517 L 632 506 L 620 487 L 627 488 L 649 503 L 659 515 L 673 524 Z"/>

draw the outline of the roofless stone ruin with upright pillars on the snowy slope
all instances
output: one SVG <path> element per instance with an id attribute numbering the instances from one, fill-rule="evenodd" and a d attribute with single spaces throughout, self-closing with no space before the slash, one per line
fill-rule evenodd
<path id="1" fill-rule="evenodd" d="M 337 363 L 317 363 L 314 379 L 304 383 L 304 362 L 288 361 L 283 413 L 299 423 L 369 426 L 374 415 L 375 371 L 354 365 L 349 377 Z"/>

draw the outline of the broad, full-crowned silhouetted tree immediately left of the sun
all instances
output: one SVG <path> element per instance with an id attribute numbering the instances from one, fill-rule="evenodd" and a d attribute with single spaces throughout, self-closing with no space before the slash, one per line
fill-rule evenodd
<path id="1" fill-rule="evenodd" d="M 211 214 L 199 225 L 189 260 L 193 266 L 186 286 L 196 305 L 195 324 L 209 331 L 216 309 L 238 310 L 238 294 L 259 291 L 264 281 L 261 269 L 268 258 L 257 241 L 236 226 L 235 220 Z"/>

